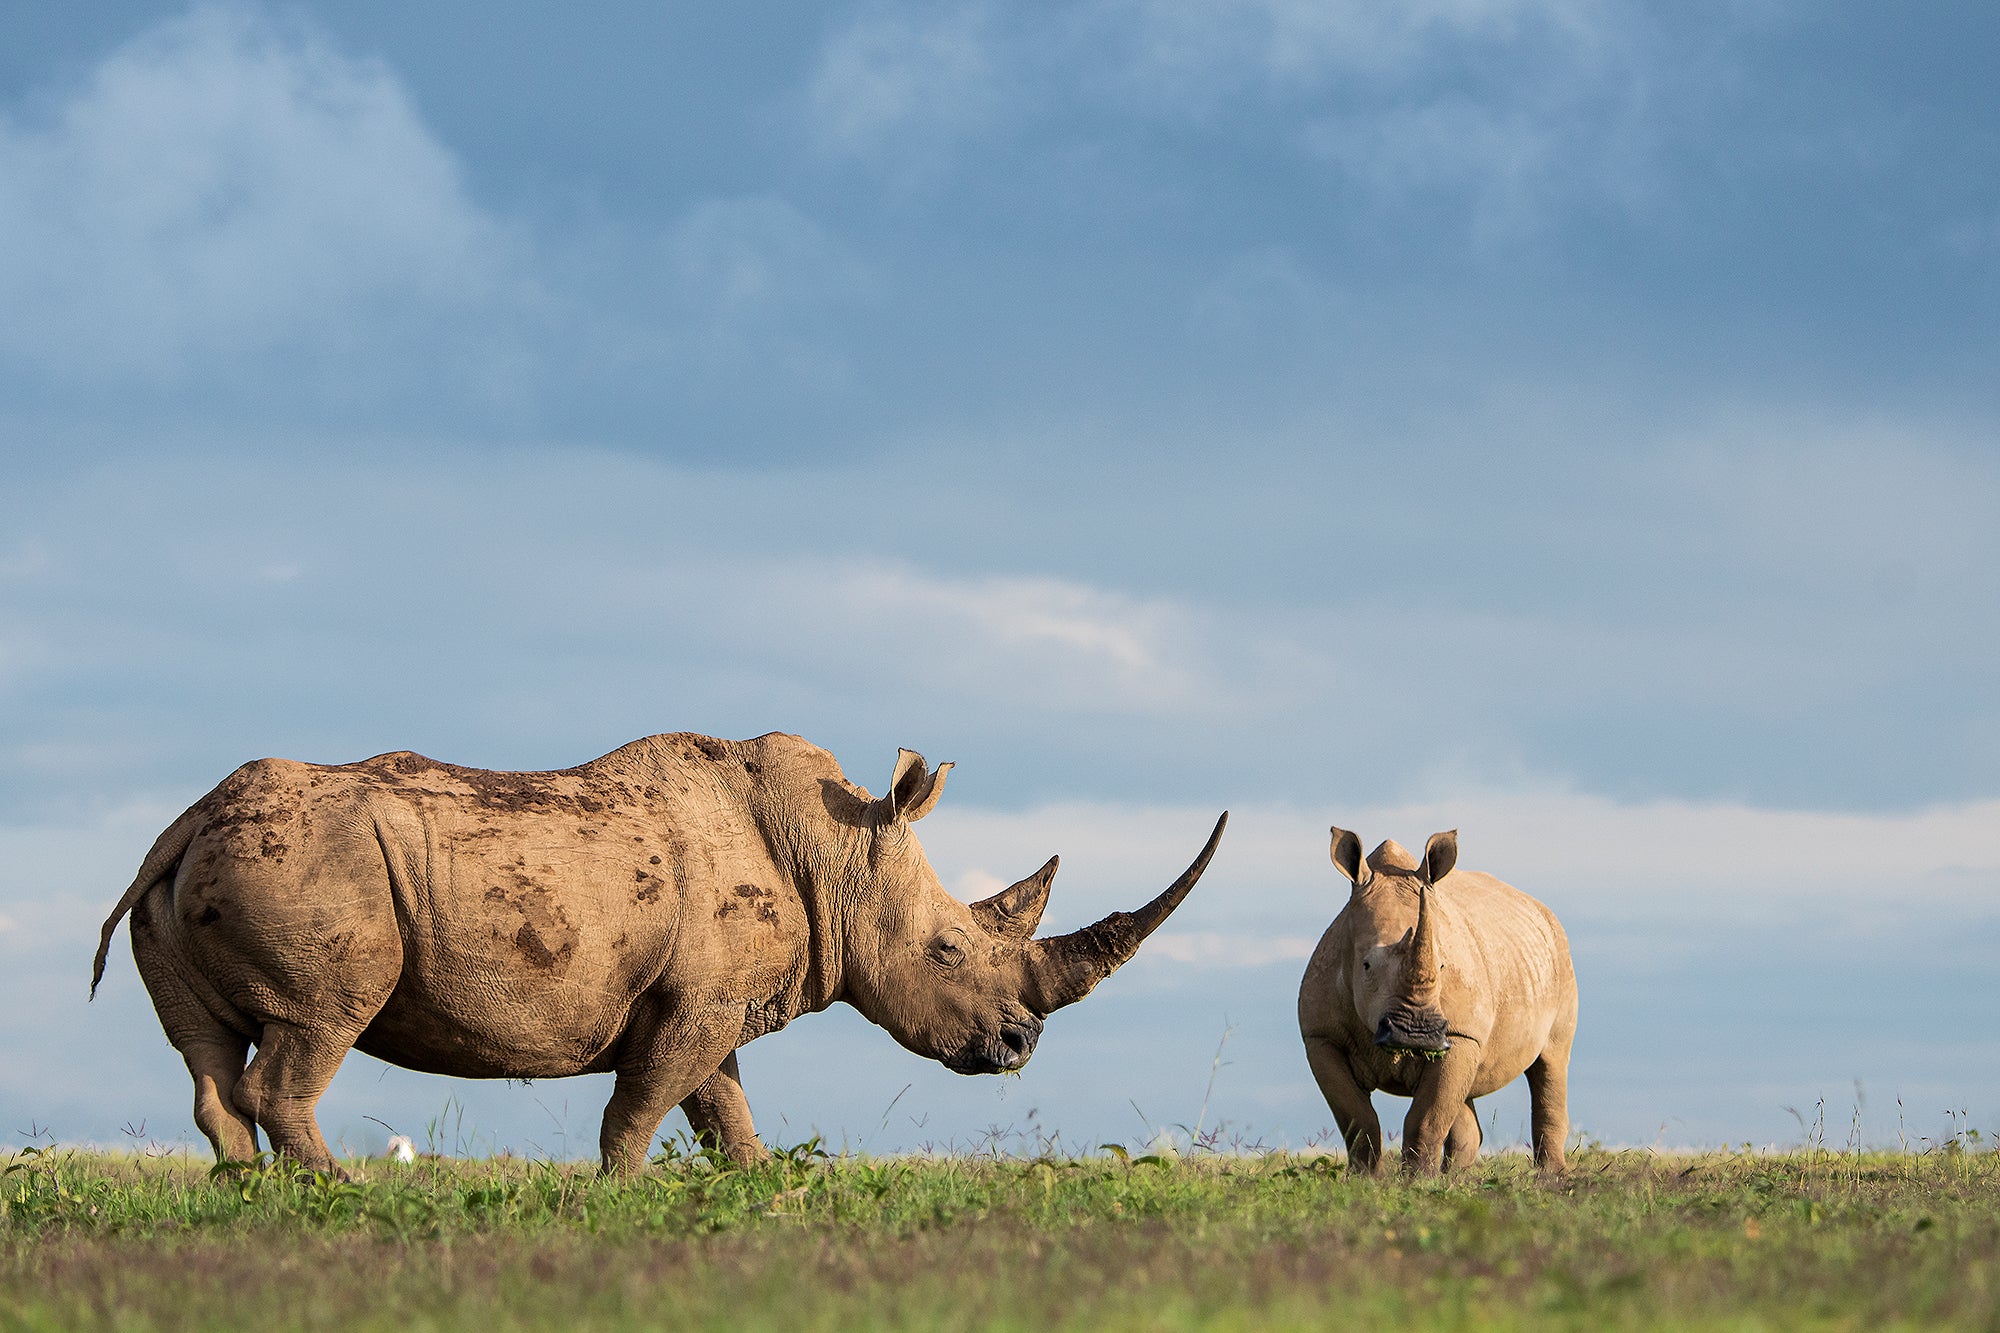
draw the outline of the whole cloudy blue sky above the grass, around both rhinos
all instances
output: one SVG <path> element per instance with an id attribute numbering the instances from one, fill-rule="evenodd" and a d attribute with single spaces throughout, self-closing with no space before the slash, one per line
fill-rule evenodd
<path id="1" fill-rule="evenodd" d="M 1312 1139 L 1328 823 L 1558 909 L 1606 1141 L 2000 1125 L 2000 18 L 1654 10 L 10 16 L 0 1131 L 192 1135 L 84 959 L 236 763 L 680 729 L 958 761 L 946 885 L 1058 925 L 1234 811 L 1024 1079 L 828 1015 L 776 1137 L 1134 1137 L 1228 1029 L 1208 1123 Z"/>

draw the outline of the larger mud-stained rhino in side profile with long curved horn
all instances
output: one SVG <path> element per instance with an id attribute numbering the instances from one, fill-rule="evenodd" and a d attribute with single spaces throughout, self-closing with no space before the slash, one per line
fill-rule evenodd
<path id="1" fill-rule="evenodd" d="M 130 911 L 222 1161 L 262 1129 L 330 1169 L 314 1103 L 350 1047 L 468 1079 L 614 1071 L 606 1171 L 644 1165 L 676 1103 L 754 1161 L 736 1047 L 846 1001 L 958 1073 L 1020 1069 L 1222 835 L 1138 913 L 1036 941 L 1054 859 L 974 905 L 924 859 L 910 825 L 948 769 L 902 751 L 876 799 L 786 735 L 650 737 L 560 773 L 262 759 L 160 835 L 90 987 Z"/>

